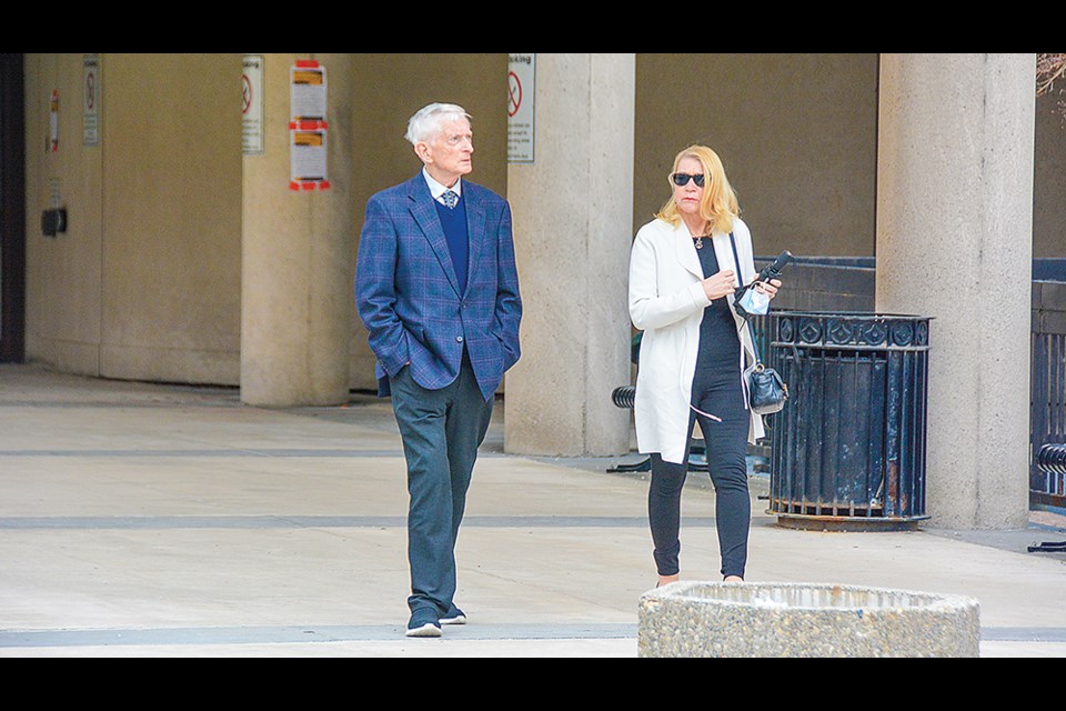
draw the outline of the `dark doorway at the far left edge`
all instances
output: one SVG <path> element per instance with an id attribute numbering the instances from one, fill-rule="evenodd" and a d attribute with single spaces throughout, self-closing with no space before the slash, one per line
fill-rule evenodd
<path id="1" fill-rule="evenodd" d="M 26 117 L 22 54 L 0 52 L 0 362 L 26 359 Z"/>

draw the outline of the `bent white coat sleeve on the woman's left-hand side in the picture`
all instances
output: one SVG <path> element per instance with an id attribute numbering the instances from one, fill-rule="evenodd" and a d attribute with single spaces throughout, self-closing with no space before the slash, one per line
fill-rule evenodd
<path id="1" fill-rule="evenodd" d="M 641 331 L 676 323 L 711 303 L 702 282 L 681 289 L 660 284 L 660 257 L 647 236 L 637 232 L 630 253 L 630 319 Z"/>

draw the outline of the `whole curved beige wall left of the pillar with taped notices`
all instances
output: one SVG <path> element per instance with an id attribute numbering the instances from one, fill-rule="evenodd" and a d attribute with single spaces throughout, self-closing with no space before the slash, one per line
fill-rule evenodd
<path id="1" fill-rule="evenodd" d="M 103 54 L 82 140 L 82 54 L 28 54 L 27 357 L 110 378 L 235 383 L 240 54 Z M 46 152 L 59 91 L 59 150 Z M 41 234 L 58 202 L 69 229 Z"/>

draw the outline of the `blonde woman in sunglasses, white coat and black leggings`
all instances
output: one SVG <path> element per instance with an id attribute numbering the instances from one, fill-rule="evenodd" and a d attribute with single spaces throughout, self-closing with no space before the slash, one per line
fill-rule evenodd
<path id="1" fill-rule="evenodd" d="M 636 439 L 652 460 L 648 522 L 658 584 L 680 577 L 681 492 L 696 421 L 716 494 L 721 573 L 742 581 L 752 515 L 745 455 L 747 442 L 764 434 L 745 384 L 755 347 L 733 310 L 734 290 L 756 278 L 752 236 L 713 150 L 681 151 L 668 180 L 670 200 L 637 231 L 630 259 L 630 318 L 644 332 Z M 756 289 L 773 298 L 780 286 Z"/>

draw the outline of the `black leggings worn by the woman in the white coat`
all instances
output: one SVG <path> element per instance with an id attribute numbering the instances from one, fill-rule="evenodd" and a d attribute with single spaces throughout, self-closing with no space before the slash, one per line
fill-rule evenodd
<path id="1" fill-rule="evenodd" d="M 728 372 L 697 370 L 692 383 L 692 404 L 722 419 L 721 422 L 691 411 L 692 425 L 700 421 L 707 447 L 707 469 L 715 491 L 715 525 L 722 552 L 722 575 L 744 578 L 747 563 L 747 533 L 752 522 L 752 503 L 747 491 L 748 411 L 737 369 Z M 688 472 L 688 448 L 684 463 L 663 461 L 652 454 L 652 484 L 647 494 L 647 513 L 655 544 L 655 565 L 660 575 L 678 572 L 681 552 L 681 492 Z"/>

